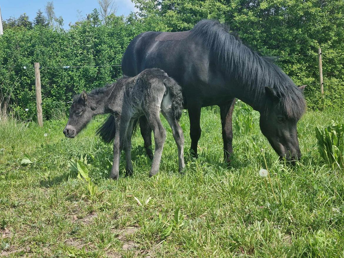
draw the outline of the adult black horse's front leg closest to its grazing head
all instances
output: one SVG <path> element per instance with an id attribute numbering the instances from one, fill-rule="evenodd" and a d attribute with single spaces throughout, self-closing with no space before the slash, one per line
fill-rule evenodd
<path id="1" fill-rule="evenodd" d="M 223 152 L 225 162 L 230 163 L 230 157 L 233 154 L 233 128 L 232 115 L 235 105 L 235 100 L 230 100 L 226 104 L 220 105 L 221 124 L 222 124 L 222 139 Z"/>

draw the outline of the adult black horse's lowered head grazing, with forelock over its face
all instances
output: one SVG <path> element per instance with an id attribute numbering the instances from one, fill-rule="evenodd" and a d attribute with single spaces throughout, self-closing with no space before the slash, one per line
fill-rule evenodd
<path id="1" fill-rule="evenodd" d="M 288 91 L 265 87 L 266 107 L 260 112 L 260 130 L 281 159 L 301 158 L 297 122 L 305 111 L 304 86 Z"/>

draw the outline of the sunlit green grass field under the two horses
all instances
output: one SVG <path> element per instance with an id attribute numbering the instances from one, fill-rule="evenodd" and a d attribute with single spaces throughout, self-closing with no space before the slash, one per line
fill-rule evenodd
<path id="1" fill-rule="evenodd" d="M 343 173 L 319 156 L 315 126 L 343 122 L 343 110 L 309 110 L 298 123 L 302 160 L 294 167 L 259 130 L 259 115 L 235 108 L 234 157 L 223 164 L 217 108 L 201 117 L 200 157 L 189 156 L 187 111 L 185 174 L 178 173 L 171 130 L 160 172 L 139 134 L 133 138 L 132 176 L 109 180 L 112 146 L 95 137 L 96 118 L 75 139 L 64 137 L 67 118 L 0 125 L 0 256 L 5 257 L 344 257 Z M 252 123 L 253 121 L 253 123 Z M 241 131 L 239 130 L 241 127 Z M 47 133 L 45 137 L 44 134 Z M 261 152 L 263 149 L 263 152 Z M 31 164 L 21 164 L 24 154 Z M 68 168 L 87 154 L 85 180 Z M 259 176 L 265 155 L 271 184 Z"/>

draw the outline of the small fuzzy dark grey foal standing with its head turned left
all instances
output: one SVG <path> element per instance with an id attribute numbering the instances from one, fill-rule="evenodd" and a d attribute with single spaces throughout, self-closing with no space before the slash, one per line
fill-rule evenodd
<path id="1" fill-rule="evenodd" d="M 184 136 L 179 125 L 183 109 L 181 87 L 168 75 L 157 68 L 146 69 L 135 77 L 122 77 L 114 84 L 85 91 L 73 98 L 69 119 L 63 133 L 74 138 L 92 119 L 99 114 L 110 113 L 115 117 L 114 161 L 111 178 L 118 179 L 120 153 L 126 154 L 126 171 L 132 173 L 131 136 L 135 123 L 146 116 L 154 132 L 155 152 L 149 176 L 159 171 L 166 131 L 160 120 L 160 110 L 168 121 L 178 147 L 179 171 L 184 168 Z"/>

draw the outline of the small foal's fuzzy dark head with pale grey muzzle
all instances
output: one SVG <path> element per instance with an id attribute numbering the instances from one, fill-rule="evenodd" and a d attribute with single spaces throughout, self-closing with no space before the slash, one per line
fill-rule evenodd
<path id="1" fill-rule="evenodd" d="M 89 102 L 85 90 L 73 99 L 69 119 L 63 130 L 66 137 L 74 138 L 92 119 L 95 108 Z"/>

